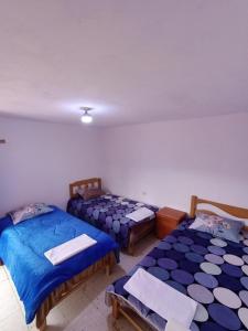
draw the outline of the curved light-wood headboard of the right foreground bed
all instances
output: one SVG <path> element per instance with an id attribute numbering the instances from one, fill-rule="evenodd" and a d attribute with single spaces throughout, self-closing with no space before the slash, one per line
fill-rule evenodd
<path id="1" fill-rule="evenodd" d="M 192 195 L 192 197 L 191 197 L 191 212 L 190 212 L 191 217 L 195 217 L 196 212 L 204 212 L 207 214 L 216 215 L 215 212 L 198 209 L 198 204 L 208 204 L 208 205 L 219 209 L 220 211 L 223 211 L 231 216 L 238 217 L 244 221 L 248 221 L 248 209 L 242 209 L 242 207 L 238 207 L 238 206 L 234 206 L 234 205 L 214 202 L 211 200 L 201 199 L 201 197 L 197 197 L 196 195 Z M 248 229 L 248 226 L 245 226 L 245 227 L 246 227 L 246 229 Z"/>

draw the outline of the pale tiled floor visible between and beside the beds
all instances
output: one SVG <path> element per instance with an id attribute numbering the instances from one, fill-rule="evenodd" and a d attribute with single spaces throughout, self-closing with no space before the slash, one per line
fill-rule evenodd
<path id="1" fill-rule="evenodd" d="M 155 237 L 151 235 L 137 246 L 134 256 L 121 253 L 120 264 L 109 277 L 104 271 L 94 275 L 50 312 L 47 331 L 131 331 L 132 327 L 123 318 L 112 319 L 110 308 L 105 305 L 105 289 L 130 270 L 155 243 Z M 0 267 L 0 330 L 36 330 L 34 323 L 25 324 L 22 303 L 4 267 Z"/>

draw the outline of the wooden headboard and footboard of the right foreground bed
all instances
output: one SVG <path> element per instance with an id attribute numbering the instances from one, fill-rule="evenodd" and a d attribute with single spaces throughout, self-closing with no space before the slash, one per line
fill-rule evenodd
<path id="1" fill-rule="evenodd" d="M 220 211 L 223 211 L 231 216 L 238 217 L 240 220 L 248 220 L 248 209 L 242 209 L 242 207 L 238 207 L 238 206 L 233 206 L 233 205 L 228 205 L 228 204 L 214 202 L 211 200 L 201 199 L 201 197 L 197 197 L 196 195 L 192 195 L 192 197 L 191 197 L 191 211 L 190 211 L 191 217 L 195 217 L 197 212 L 204 212 L 204 213 L 208 213 L 212 215 L 217 215 L 215 212 L 213 212 L 211 210 L 208 211 L 208 210 L 198 209 L 200 204 L 208 204 L 208 205 L 219 209 Z M 244 226 L 244 228 L 248 231 L 248 226 Z M 129 307 L 129 305 L 127 302 L 122 302 L 122 300 L 115 295 L 111 295 L 111 306 L 112 306 L 112 317 L 115 319 L 118 319 L 120 316 L 122 316 L 134 327 L 136 330 L 144 331 L 144 329 L 140 325 L 140 319 L 142 320 L 142 322 L 143 321 L 145 323 L 148 323 L 148 322 L 144 320 L 144 318 L 141 318 L 133 310 L 133 308 L 131 306 Z M 150 324 L 149 324 L 149 327 L 151 328 L 151 330 L 153 330 L 153 328 Z"/>

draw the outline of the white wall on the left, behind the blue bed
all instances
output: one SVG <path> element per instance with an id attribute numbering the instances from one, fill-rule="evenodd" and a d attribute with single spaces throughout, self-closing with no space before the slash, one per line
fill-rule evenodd
<path id="1" fill-rule="evenodd" d="M 0 117 L 0 215 L 28 202 L 65 207 L 68 183 L 98 175 L 98 134 L 83 126 Z"/>

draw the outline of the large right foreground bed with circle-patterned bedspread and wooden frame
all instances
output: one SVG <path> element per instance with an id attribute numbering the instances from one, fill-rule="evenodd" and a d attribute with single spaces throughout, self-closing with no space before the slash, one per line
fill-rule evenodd
<path id="1" fill-rule="evenodd" d="M 126 317 L 141 331 L 140 321 L 151 330 L 165 330 L 166 321 L 129 295 L 123 286 L 138 268 L 200 302 L 192 331 L 248 330 L 248 229 L 239 243 L 213 237 L 188 228 L 200 204 L 217 207 L 238 218 L 248 220 L 248 210 L 192 196 L 191 213 L 164 237 L 133 269 L 107 288 L 106 303 L 112 314 Z M 228 259 L 227 259 L 228 257 Z"/>

